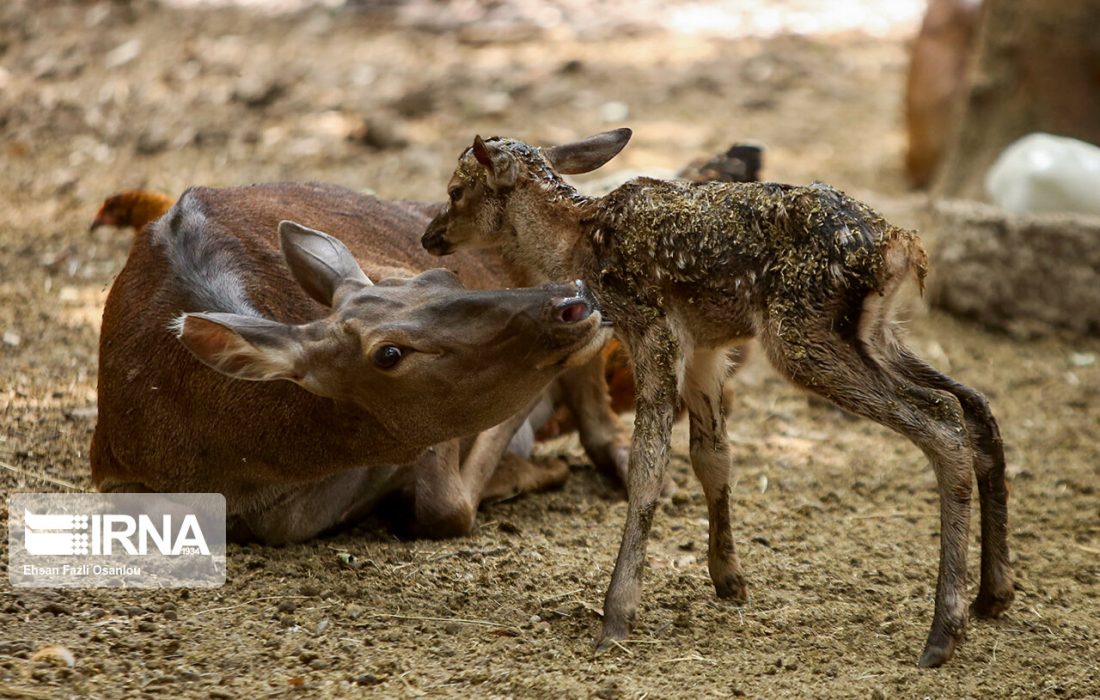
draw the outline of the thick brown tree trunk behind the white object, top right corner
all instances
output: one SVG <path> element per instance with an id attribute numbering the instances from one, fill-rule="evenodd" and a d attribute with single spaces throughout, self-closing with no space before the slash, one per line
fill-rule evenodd
<path id="1" fill-rule="evenodd" d="M 1020 136 L 1100 144 L 1100 0 L 985 0 L 941 197 L 985 199 L 986 172 Z"/>

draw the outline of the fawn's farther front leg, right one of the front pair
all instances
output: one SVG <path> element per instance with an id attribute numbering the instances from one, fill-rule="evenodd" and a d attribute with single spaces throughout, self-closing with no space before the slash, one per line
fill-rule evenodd
<path id="1" fill-rule="evenodd" d="M 746 603 L 748 590 L 729 518 L 729 440 L 723 401 L 728 356 L 725 348 L 696 351 L 684 375 L 683 394 L 691 420 L 691 466 L 706 496 L 711 580 L 718 598 Z"/>

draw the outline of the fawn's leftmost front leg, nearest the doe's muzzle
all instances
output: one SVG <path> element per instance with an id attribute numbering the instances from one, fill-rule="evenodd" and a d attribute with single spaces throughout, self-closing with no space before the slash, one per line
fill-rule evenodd
<path id="1" fill-rule="evenodd" d="M 653 322 L 644 335 L 631 340 L 637 414 L 627 480 L 629 502 L 623 543 L 604 600 L 604 627 L 597 649 L 625 638 L 638 612 L 649 528 L 669 464 L 679 394 L 676 365 L 683 361 L 680 343 L 663 320 Z"/>

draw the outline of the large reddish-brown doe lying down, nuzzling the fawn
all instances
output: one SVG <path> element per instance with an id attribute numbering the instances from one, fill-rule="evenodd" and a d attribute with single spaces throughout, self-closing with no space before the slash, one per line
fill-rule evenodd
<path id="1" fill-rule="evenodd" d="M 547 385 L 598 357 L 600 311 L 579 283 L 463 288 L 392 234 L 427 220 L 323 185 L 185 193 L 107 300 L 96 486 L 221 492 L 235 538 L 278 544 L 406 490 L 419 533 L 459 535 L 481 500 L 563 481 L 506 449 Z"/>

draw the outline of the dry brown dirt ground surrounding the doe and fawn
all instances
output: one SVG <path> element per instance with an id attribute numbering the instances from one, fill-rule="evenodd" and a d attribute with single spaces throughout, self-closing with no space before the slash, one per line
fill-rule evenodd
<path id="1" fill-rule="evenodd" d="M 904 194 L 903 33 L 486 33 L 431 17 L 0 4 L 6 492 L 89 488 L 99 316 L 129 234 L 87 229 L 120 189 L 320 179 L 441 198 L 475 132 L 551 143 L 627 123 L 618 167 L 750 139 L 771 179 Z M 626 504 L 564 439 L 544 448 L 575 462 L 563 490 L 490 506 L 460 540 L 364 526 L 231 547 L 229 581 L 208 591 L 4 581 L 0 696 L 1100 697 L 1100 340 L 1009 340 L 931 313 L 912 341 L 989 396 L 1012 480 L 1016 601 L 972 622 L 944 668 L 915 667 L 938 551 L 925 459 L 751 365 L 728 424 L 745 608 L 713 595 L 680 426 L 639 626 L 595 656 Z M 47 645 L 75 666 L 30 659 Z"/>

